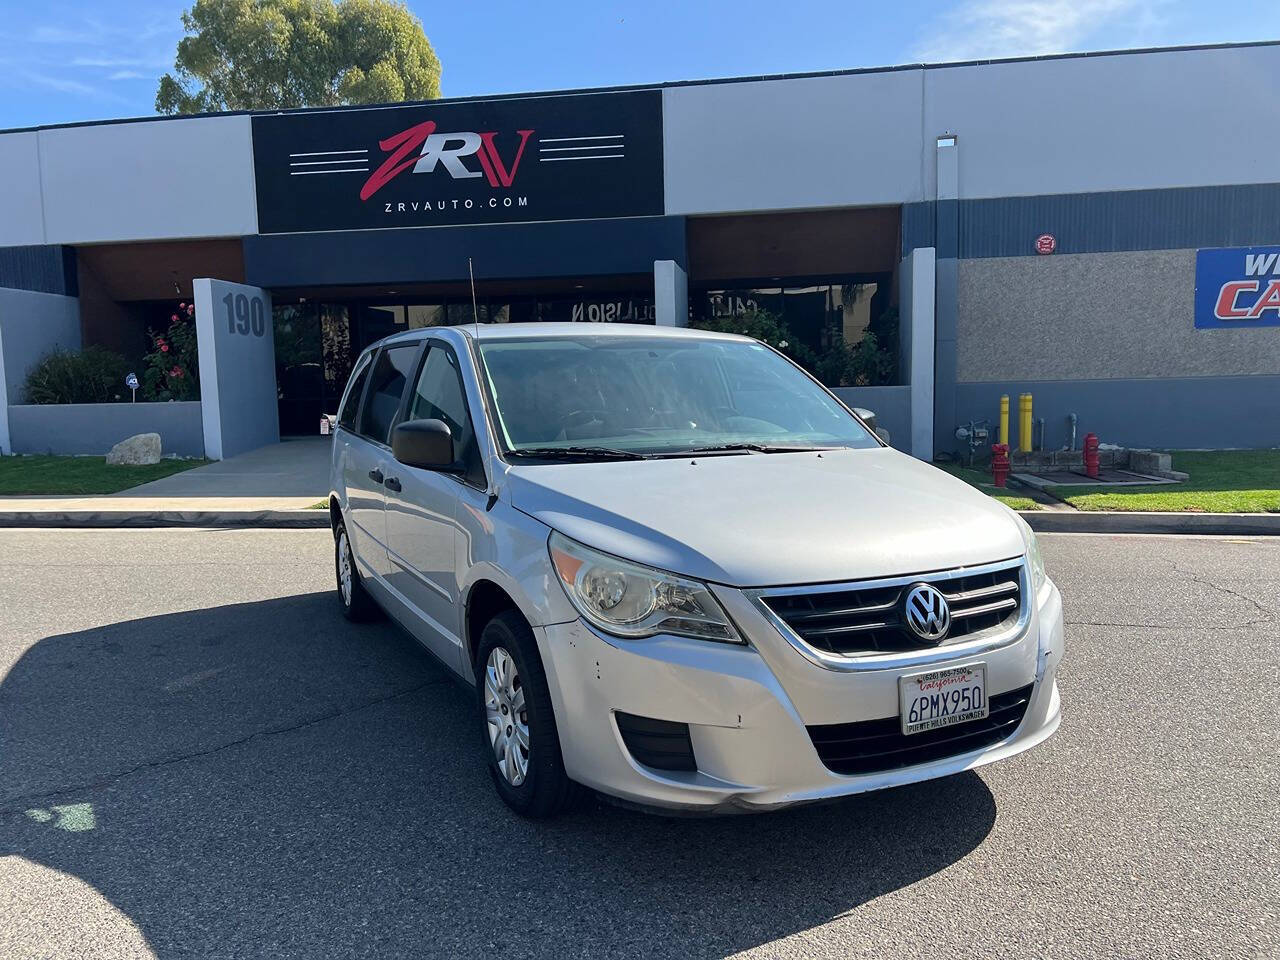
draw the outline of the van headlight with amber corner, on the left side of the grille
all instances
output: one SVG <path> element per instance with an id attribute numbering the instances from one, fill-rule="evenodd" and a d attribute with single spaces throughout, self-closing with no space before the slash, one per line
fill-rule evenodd
<path id="1" fill-rule="evenodd" d="M 618 559 L 554 532 L 548 547 L 570 602 L 607 634 L 742 643 L 716 598 L 696 580 Z"/>

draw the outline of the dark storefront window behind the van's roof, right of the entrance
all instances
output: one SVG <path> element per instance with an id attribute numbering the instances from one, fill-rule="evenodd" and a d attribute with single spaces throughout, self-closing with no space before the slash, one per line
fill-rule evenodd
<path id="1" fill-rule="evenodd" d="M 897 378 L 891 279 L 870 275 L 712 287 L 691 296 L 692 323 L 767 340 L 828 387 L 891 384 Z"/>

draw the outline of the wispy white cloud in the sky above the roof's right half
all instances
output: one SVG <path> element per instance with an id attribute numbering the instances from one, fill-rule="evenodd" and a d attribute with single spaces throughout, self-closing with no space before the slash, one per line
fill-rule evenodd
<path id="1" fill-rule="evenodd" d="M 922 60 L 982 60 L 1080 50 L 1091 38 L 1125 46 L 1125 31 L 1147 32 L 1164 0 L 965 0 L 928 28 Z"/>

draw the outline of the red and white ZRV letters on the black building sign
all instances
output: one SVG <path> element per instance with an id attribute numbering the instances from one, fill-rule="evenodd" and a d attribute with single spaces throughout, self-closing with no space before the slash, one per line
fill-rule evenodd
<path id="1" fill-rule="evenodd" d="M 390 156 L 365 180 L 365 186 L 360 188 L 360 198 L 369 200 L 410 166 L 413 168 L 413 173 L 434 173 L 436 166 L 443 166 L 456 180 L 484 177 L 490 187 L 509 187 L 516 179 L 516 170 L 520 169 L 520 160 L 525 155 L 525 145 L 532 131 L 516 131 L 520 142 L 508 168 L 498 152 L 495 132 L 436 133 L 434 120 L 416 124 L 378 142 L 378 146 Z M 419 148 L 421 151 L 413 156 Z M 480 161 L 479 170 L 463 163 L 465 157 L 472 156 Z"/>

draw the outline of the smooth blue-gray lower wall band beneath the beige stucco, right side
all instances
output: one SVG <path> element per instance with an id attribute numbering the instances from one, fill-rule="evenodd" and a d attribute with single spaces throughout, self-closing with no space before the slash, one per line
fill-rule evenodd
<path id="1" fill-rule="evenodd" d="M 1280 447 L 1280 375 L 959 384 L 956 420 L 987 417 L 995 425 L 1000 396 L 1007 393 L 1014 439 L 1018 394 L 1023 392 L 1032 394 L 1033 415 L 1044 419 L 1048 449 L 1066 445 L 1070 413 L 1080 419 L 1076 449 L 1091 431 L 1103 443 L 1156 449 Z M 955 443 L 950 440 L 952 447 Z"/>

